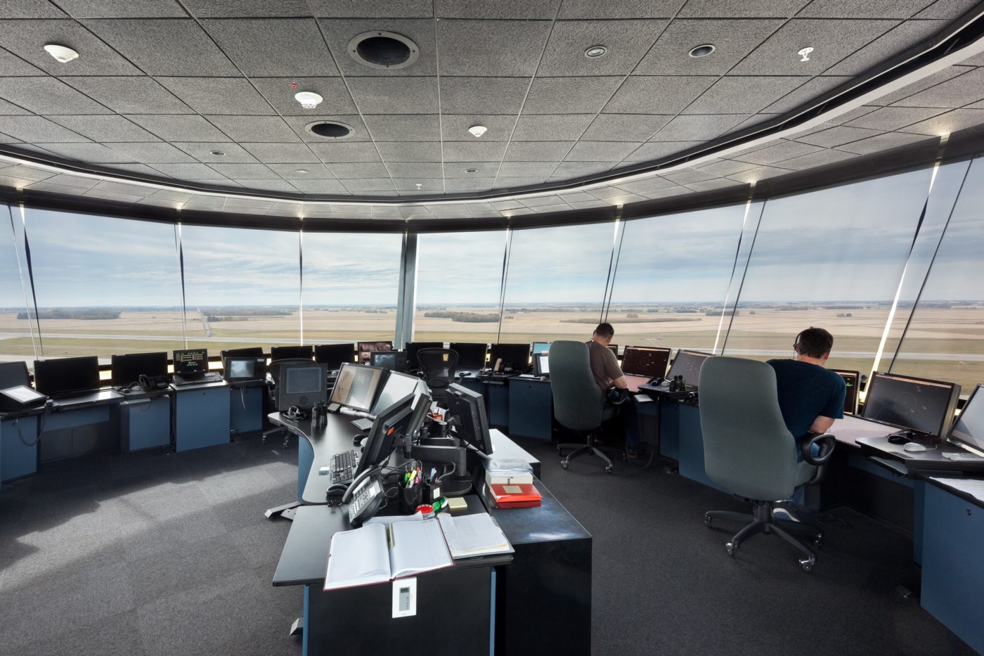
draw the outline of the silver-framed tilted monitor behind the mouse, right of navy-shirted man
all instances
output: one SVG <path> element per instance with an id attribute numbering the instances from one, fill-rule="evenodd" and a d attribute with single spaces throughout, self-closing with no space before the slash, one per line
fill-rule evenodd
<path id="1" fill-rule="evenodd" d="M 861 416 L 929 435 L 946 435 L 959 396 L 956 383 L 876 371 L 865 390 Z"/>

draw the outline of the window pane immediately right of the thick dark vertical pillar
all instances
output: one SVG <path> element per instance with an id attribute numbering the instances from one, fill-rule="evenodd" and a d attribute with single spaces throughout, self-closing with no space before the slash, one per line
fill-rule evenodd
<path id="1" fill-rule="evenodd" d="M 417 237 L 417 342 L 495 342 L 506 231 Z"/>

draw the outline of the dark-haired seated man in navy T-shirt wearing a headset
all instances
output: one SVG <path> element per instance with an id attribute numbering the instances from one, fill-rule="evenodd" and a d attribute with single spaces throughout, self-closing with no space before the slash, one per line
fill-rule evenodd
<path id="1" fill-rule="evenodd" d="M 823 328 L 808 328 L 796 336 L 793 360 L 770 360 L 775 370 L 779 410 L 789 432 L 796 438 L 796 459 L 802 460 L 800 441 L 811 432 L 827 432 L 833 421 L 844 416 L 844 379 L 824 368 L 830 358 L 833 337 Z M 803 490 L 793 498 L 802 502 Z M 786 516 L 783 516 L 784 513 Z M 785 508 L 776 508 L 782 519 L 795 517 Z"/>

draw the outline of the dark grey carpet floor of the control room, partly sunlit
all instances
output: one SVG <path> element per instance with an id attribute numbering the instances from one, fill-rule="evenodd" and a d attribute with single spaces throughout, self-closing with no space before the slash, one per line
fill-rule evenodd
<path id="1" fill-rule="evenodd" d="M 732 559 L 734 527 L 703 512 L 738 501 L 657 467 L 564 472 L 549 444 L 521 441 L 594 536 L 594 654 L 973 653 L 895 593 L 911 543 L 857 513 L 836 513 L 812 573 L 771 536 Z M 289 523 L 263 516 L 295 492 L 296 442 L 258 438 L 94 454 L 5 484 L 0 654 L 300 653 L 300 590 L 270 583 Z"/>

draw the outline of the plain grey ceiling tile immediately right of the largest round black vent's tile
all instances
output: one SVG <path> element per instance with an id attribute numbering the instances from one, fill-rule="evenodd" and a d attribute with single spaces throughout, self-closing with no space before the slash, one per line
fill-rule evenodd
<path id="1" fill-rule="evenodd" d="M 523 77 L 536 72 L 548 21 L 460 21 L 437 24 L 441 75 Z M 481 43 L 480 52 L 475 43 Z"/>

